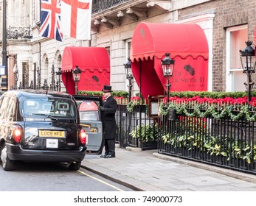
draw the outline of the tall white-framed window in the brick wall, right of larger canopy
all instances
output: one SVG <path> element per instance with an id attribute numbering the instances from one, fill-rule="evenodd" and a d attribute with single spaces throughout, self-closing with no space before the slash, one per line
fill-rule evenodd
<path id="1" fill-rule="evenodd" d="M 246 75 L 241 67 L 240 52 L 248 40 L 247 25 L 226 29 L 226 91 L 244 91 Z"/>

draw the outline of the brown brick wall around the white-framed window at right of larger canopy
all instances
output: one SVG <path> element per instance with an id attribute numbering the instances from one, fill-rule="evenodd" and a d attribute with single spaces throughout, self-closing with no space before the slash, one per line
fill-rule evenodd
<path id="1" fill-rule="evenodd" d="M 224 91 L 226 85 L 226 28 L 248 24 L 248 40 L 253 41 L 256 24 L 256 1 L 214 0 L 179 10 L 179 18 L 211 9 L 215 9 L 215 18 L 213 20 L 212 90 Z"/>

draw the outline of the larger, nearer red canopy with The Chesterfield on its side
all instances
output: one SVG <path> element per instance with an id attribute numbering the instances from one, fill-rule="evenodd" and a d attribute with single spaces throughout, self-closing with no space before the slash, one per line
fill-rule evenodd
<path id="1" fill-rule="evenodd" d="M 197 24 L 140 23 L 131 40 L 131 68 L 142 96 L 163 95 L 161 60 L 175 60 L 170 90 L 207 90 L 208 43 Z"/>

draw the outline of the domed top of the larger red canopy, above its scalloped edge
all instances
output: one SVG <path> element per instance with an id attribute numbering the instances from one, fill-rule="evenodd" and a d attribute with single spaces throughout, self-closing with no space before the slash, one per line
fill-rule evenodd
<path id="1" fill-rule="evenodd" d="M 208 60 L 209 49 L 203 29 L 197 24 L 140 23 L 131 40 L 131 61 L 170 57 L 198 56 Z"/>

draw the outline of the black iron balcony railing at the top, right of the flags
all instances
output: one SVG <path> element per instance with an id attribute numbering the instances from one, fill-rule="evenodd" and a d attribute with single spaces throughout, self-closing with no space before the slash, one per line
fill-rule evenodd
<path id="1" fill-rule="evenodd" d="M 108 10 L 111 7 L 117 6 L 118 4 L 125 3 L 131 0 L 94 0 L 92 1 L 91 13 L 100 13 L 104 10 Z"/>

